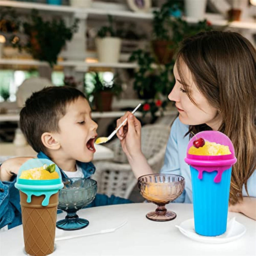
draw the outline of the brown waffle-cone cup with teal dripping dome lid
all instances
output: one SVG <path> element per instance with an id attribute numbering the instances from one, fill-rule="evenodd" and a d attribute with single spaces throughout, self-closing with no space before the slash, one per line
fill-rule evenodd
<path id="1" fill-rule="evenodd" d="M 20 190 L 20 206 L 25 251 L 42 256 L 54 250 L 55 228 L 59 190 L 63 188 L 60 170 L 58 179 L 20 179 L 20 173 L 44 164 L 54 164 L 48 159 L 31 159 L 20 167 L 15 187 Z"/>

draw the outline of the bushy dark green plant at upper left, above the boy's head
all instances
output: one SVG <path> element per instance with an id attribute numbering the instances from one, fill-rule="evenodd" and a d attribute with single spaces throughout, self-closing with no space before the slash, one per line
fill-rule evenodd
<path id="1" fill-rule="evenodd" d="M 16 46 L 24 48 L 37 60 L 47 61 L 52 67 L 57 63 L 58 54 L 66 41 L 72 39 L 78 29 L 78 19 L 71 27 L 67 27 L 63 19 L 44 21 L 37 10 L 31 12 L 31 22 L 24 22 L 24 33 L 28 36 L 26 43 L 20 41 Z"/>

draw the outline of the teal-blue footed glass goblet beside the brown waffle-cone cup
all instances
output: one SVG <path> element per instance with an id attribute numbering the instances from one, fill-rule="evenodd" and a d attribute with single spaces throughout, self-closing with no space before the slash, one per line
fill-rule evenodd
<path id="1" fill-rule="evenodd" d="M 62 181 L 64 188 L 59 193 L 58 209 L 67 212 L 67 216 L 57 221 L 57 228 L 76 230 L 87 227 L 89 221 L 79 218 L 76 212 L 93 201 L 97 193 L 97 181 L 85 178 L 67 178 Z"/>

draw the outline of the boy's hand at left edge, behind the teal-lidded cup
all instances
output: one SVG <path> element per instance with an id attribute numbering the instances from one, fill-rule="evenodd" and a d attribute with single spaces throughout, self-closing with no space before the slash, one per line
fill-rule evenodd
<path id="1" fill-rule="evenodd" d="M 20 166 L 32 158 L 35 158 L 35 157 L 32 157 L 32 156 L 14 157 L 14 158 L 9 158 L 5 160 L 3 164 L 0 166 L 0 180 L 10 181 L 12 178 L 12 175 L 18 174 Z"/>

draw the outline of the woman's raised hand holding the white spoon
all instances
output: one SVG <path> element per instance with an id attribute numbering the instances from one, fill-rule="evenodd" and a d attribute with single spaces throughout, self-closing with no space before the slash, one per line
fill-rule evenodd
<path id="1" fill-rule="evenodd" d="M 127 117 L 127 122 L 116 133 L 121 141 L 122 148 L 128 160 L 134 156 L 141 155 L 141 124 L 140 121 L 130 112 L 126 112 L 124 116 L 116 122 L 118 127 Z"/>

